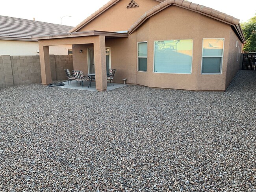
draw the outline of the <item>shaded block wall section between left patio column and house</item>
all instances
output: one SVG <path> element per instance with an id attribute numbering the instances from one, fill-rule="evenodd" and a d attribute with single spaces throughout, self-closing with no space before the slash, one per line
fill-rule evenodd
<path id="1" fill-rule="evenodd" d="M 69 69 L 70 72 L 73 68 L 73 55 L 55 55 L 56 65 L 56 79 L 63 80 L 67 79 L 64 69 Z"/>

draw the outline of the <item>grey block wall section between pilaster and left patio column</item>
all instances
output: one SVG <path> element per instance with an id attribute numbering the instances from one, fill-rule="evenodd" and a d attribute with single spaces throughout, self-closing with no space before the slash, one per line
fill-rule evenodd
<path id="1" fill-rule="evenodd" d="M 14 85 L 41 83 L 39 55 L 10 57 Z"/>

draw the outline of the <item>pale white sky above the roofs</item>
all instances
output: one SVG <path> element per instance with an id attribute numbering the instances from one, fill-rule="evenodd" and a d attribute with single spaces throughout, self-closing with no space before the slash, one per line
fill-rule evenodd
<path id="1" fill-rule="evenodd" d="M 236 17 L 240 22 L 245 22 L 256 14 L 256 0 L 189 1 Z M 77 26 L 107 2 L 109 0 L 1 0 L 0 15 L 30 20 L 35 18 L 37 21 L 55 24 L 61 24 L 62 21 L 63 25 Z"/>

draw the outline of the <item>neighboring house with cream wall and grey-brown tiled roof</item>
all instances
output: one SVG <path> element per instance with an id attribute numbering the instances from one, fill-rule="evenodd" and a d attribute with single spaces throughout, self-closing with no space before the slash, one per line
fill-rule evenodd
<path id="1" fill-rule="evenodd" d="M 39 55 L 32 36 L 67 33 L 73 27 L 0 15 L 0 55 Z M 72 45 L 50 46 L 52 55 L 69 55 Z"/>

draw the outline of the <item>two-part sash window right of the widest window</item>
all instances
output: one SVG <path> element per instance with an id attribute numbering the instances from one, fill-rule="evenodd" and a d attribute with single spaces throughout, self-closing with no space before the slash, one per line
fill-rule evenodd
<path id="1" fill-rule="evenodd" d="M 203 39 L 202 74 L 221 74 L 224 39 Z"/>

